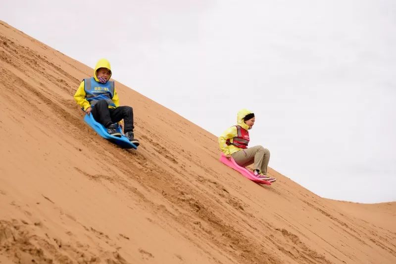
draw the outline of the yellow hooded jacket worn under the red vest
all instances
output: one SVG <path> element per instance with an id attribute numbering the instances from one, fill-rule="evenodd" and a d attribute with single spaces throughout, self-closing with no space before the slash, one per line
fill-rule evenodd
<path id="1" fill-rule="evenodd" d="M 242 109 L 239 110 L 238 114 L 237 114 L 237 124 L 239 126 L 241 126 L 243 129 L 248 130 L 249 126 L 247 126 L 244 122 L 244 117 L 246 117 L 248 114 L 251 114 L 251 112 L 247 109 Z M 234 145 L 227 145 L 226 141 L 227 139 L 230 139 L 230 142 L 233 142 L 233 138 L 238 136 L 238 132 L 237 132 L 237 127 L 233 126 L 229 129 L 227 129 L 225 132 L 223 132 L 223 134 L 221 134 L 219 136 L 219 146 L 221 151 L 225 154 L 225 155 L 231 155 L 237 151 L 242 150 L 242 148 L 236 147 Z"/>

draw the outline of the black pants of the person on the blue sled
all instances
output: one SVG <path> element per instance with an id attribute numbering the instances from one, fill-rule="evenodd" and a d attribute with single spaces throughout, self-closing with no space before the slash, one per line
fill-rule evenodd
<path id="1" fill-rule="evenodd" d="M 119 106 L 109 109 L 105 100 L 98 101 L 93 107 L 91 113 L 95 120 L 108 127 L 124 119 L 124 133 L 133 131 L 133 109 L 130 106 Z"/>

